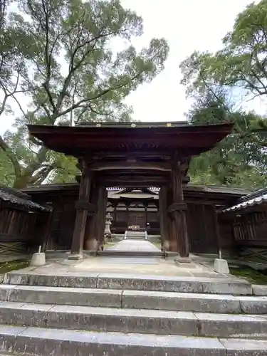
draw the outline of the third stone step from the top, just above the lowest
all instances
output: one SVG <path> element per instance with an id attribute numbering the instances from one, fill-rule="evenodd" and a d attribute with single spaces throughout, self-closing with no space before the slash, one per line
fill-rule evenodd
<path id="1" fill-rule="evenodd" d="M 0 303 L 0 323 L 93 332 L 267 338 L 267 315 Z"/>

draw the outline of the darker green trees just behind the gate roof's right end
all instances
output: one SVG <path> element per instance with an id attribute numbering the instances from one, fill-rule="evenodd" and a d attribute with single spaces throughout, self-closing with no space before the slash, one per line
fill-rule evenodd
<path id="1" fill-rule="evenodd" d="M 233 120 L 241 130 L 253 125 L 258 116 L 253 112 L 230 112 L 224 97 L 217 100 L 212 95 L 197 100 L 189 111 L 190 122 L 203 125 L 218 124 Z M 245 119 L 245 120 L 244 120 Z M 243 185 L 249 189 L 263 187 L 267 182 L 266 148 L 251 142 L 249 136 L 241 136 L 239 129 L 229 135 L 216 147 L 192 159 L 190 175 L 198 184 Z"/>

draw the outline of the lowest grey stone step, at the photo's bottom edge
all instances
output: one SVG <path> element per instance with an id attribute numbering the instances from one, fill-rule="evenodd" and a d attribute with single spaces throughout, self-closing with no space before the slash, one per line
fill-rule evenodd
<path id="1" fill-rule="evenodd" d="M 267 341 L 0 326 L 0 349 L 38 356 L 266 356 Z"/>

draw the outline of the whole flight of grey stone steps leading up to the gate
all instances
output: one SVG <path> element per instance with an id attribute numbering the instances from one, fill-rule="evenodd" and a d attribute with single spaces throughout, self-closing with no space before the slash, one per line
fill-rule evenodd
<path id="1" fill-rule="evenodd" d="M 236 278 L 7 273 L 0 350 L 53 356 L 267 355 L 267 297 Z"/>

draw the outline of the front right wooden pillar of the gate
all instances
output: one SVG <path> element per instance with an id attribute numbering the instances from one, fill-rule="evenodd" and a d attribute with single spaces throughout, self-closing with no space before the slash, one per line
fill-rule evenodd
<path id="1" fill-rule="evenodd" d="M 174 162 L 172 169 L 172 197 L 173 203 L 169 206 L 174 226 L 172 234 L 177 241 L 178 252 L 181 258 L 189 258 L 189 243 L 187 236 L 187 221 L 185 217 L 184 194 L 182 190 L 182 172 L 180 162 Z"/>

